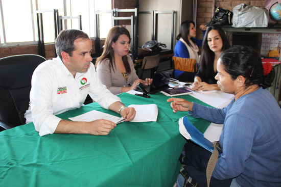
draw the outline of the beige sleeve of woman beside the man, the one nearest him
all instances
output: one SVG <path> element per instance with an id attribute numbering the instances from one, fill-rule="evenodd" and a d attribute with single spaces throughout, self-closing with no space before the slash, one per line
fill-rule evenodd
<path id="1" fill-rule="evenodd" d="M 122 87 L 114 87 L 112 86 L 112 74 L 109 66 L 109 60 L 103 60 L 101 63 L 97 65 L 97 75 L 101 80 L 102 84 L 106 86 L 106 88 L 113 94 L 120 94 Z"/>

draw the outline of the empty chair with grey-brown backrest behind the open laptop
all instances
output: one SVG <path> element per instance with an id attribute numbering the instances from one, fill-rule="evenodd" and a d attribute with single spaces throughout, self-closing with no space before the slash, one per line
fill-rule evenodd
<path id="1" fill-rule="evenodd" d="M 144 72 L 146 70 L 151 70 L 150 77 L 153 78 L 153 74 L 157 70 L 159 62 L 160 62 L 160 55 L 145 57 L 142 64 L 142 74 L 140 75 L 139 78 L 143 78 Z"/>

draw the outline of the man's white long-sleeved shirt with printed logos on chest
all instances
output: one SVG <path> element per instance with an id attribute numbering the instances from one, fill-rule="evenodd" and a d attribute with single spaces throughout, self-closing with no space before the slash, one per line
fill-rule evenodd
<path id="1" fill-rule="evenodd" d="M 34 123 L 40 136 L 54 133 L 61 120 L 55 115 L 80 108 L 87 94 L 105 109 L 121 101 L 101 83 L 92 63 L 85 73 L 73 77 L 59 57 L 40 64 L 32 75 L 31 85 L 25 118 L 27 123 Z"/>

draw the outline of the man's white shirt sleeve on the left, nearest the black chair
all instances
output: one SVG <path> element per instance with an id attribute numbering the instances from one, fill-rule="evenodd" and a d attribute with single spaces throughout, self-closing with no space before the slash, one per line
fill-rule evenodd
<path id="1" fill-rule="evenodd" d="M 53 115 L 52 77 L 37 70 L 33 73 L 31 82 L 31 114 L 35 129 L 40 136 L 54 133 L 61 119 Z"/>

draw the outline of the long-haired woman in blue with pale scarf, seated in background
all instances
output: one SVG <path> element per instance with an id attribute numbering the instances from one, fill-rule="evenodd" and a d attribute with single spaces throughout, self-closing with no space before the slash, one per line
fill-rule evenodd
<path id="1" fill-rule="evenodd" d="M 203 31 L 203 36 L 206 31 L 205 25 L 200 25 Z M 174 56 L 180 58 L 196 59 L 198 62 L 198 46 L 202 46 L 202 40 L 196 39 L 196 28 L 193 21 L 183 21 L 180 24 L 179 34 L 177 36 L 178 42 L 175 45 Z M 184 71 L 175 70 L 175 78 L 184 73 Z M 179 78 L 184 81 L 184 74 Z"/>

